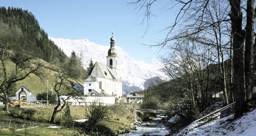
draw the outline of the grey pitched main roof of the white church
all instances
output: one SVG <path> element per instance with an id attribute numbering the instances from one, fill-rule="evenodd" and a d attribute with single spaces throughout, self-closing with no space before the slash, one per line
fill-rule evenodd
<path id="1" fill-rule="evenodd" d="M 85 81 L 97 81 L 96 78 L 105 78 L 121 82 L 112 69 L 99 62 L 96 62 L 93 68 L 91 68 L 91 71 L 87 75 Z"/>

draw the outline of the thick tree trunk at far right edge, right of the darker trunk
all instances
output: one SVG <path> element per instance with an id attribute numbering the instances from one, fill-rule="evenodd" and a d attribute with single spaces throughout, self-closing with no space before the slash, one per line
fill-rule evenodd
<path id="1" fill-rule="evenodd" d="M 245 90 L 246 100 L 250 100 L 253 92 L 254 0 L 247 0 L 245 31 Z"/>

